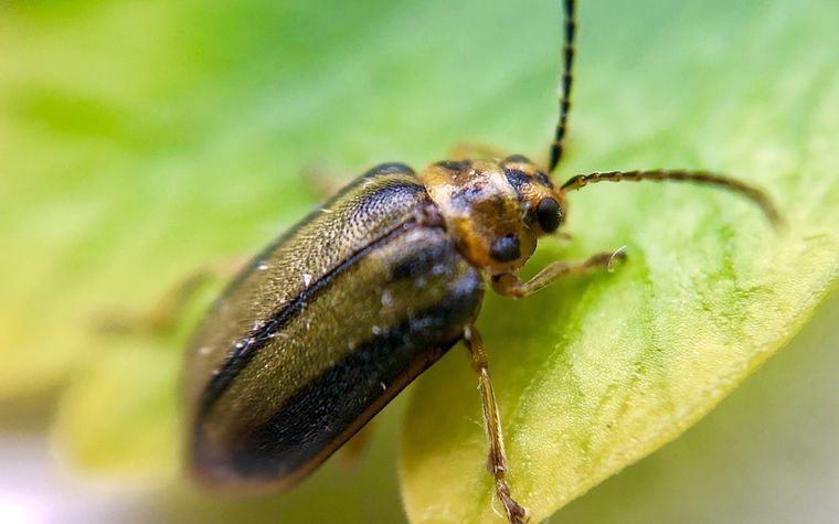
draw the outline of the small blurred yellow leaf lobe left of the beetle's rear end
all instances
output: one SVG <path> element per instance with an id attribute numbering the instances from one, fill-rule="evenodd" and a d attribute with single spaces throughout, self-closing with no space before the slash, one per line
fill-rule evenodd
<path id="1" fill-rule="evenodd" d="M 180 355 L 148 344 L 115 345 L 63 393 L 56 437 L 73 442 L 73 461 L 83 468 L 135 483 L 168 481 L 179 462 L 172 392 Z"/>

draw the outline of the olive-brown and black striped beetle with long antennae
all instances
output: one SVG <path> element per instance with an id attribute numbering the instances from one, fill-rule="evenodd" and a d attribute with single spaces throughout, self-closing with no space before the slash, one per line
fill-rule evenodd
<path id="1" fill-rule="evenodd" d="M 495 491 L 511 494 L 484 344 L 485 288 L 523 298 L 566 275 L 610 268 L 622 249 L 517 271 L 567 216 L 567 195 L 602 181 L 686 181 L 725 189 L 780 218 L 760 190 L 704 171 L 550 173 L 563 154 L 575 2 L 564 0 L 560 116 L 546 169 L 513 154 L 454 158 L 415 172 L 378 165 L 263 249 L 193 335 L 185 364 L 187 455 L 201 480 L 286 489 L 358 432 L 463 341 L 477 373 Z M 490 156 L 491 157 L 491 156 Z"/>

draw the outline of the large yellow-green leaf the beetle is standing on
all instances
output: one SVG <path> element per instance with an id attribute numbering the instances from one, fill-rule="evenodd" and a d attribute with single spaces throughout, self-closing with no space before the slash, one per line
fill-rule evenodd
<path id="1" fill-rule="evenodd" d="M 386 160 L 422 167 L 458 140 L 542 154 L 557 3 L 0 4 L 0 400 L 53 392 L 55 442 L 74 463 L 171 485 L 190 327 L 120 340 L 97 322 L 257 249 L 316 205 L 312 168 L 346 181 Z M 543 243 L 527 272 L 622 245 L 627 264 L 518 302 L 490 296 L 479 323 L 510 482 L 537 518 L 708 413 L 835 286 L 833 3 L 582 6 L 560 179 L 730 172 L 765 188 L 788 228 L 707 189 L 571 195 L 573 239 Z M 400 468 L 412 521 L 498 520 L 475 386 L 455 349 L 414 387 Z M 328 464 L 277 502 L 179 488 L 158 494 L 169 509 L 149 504 L 208 518 L 399 518 L 386 429 L 352 482 Z M 336 498 L 343 512 L 318 504 Z"/>

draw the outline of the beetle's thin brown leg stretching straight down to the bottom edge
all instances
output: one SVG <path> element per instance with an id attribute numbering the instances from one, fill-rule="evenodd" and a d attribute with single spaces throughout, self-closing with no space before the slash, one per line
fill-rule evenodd
<path id="1" fill-rule="evenodd" d="M 487 440 L 489 440 L 487 467 L 496 481 L 496 494 L 505 506 L 507 520 L 512 524 L 521 524 L 528 521 L 528 510 L 513 500 L 510 494 L 510 486 L 507 483 L 507 456 L 501 436 L 501 418 L 498 414 L 496 395 L 492 392 L 492 382 L 489 379 L 484 342 L 474 325 L 468 327 L 464 332 L 464 341 L 471 355 L 472 368 L 478 374 L 480 399 L 484 404 L 484 427 L 487 430 Z"/>

